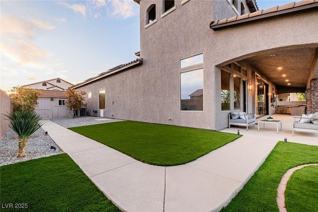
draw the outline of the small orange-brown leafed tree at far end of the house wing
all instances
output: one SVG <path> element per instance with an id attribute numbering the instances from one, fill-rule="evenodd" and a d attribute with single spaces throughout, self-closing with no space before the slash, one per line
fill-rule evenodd
<path id="1" fill-rule="evenodd" d="M 66 95 L 68 99 L 66 100 L 66 105 L 72 113 L 72 117 L 75 117 L 76 110 L 80 110 L 81 106 L 84 105 L 84 95 L 86 94 L 85 91 L 78 91 L 69 87 L 67 89 Z"/>

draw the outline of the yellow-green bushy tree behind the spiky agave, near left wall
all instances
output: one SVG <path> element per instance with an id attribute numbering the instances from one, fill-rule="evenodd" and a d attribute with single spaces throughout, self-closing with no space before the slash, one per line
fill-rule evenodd
<path id="1" fill-rule="evenodd" d="M 41 94 L 40 91 L 26 88 L 26 87 L 13 87 L 10 90 L 12 93 L 9 96 L 12 99 L 13 111 L 34 111 L 38 105 L 38 98 Z"/>

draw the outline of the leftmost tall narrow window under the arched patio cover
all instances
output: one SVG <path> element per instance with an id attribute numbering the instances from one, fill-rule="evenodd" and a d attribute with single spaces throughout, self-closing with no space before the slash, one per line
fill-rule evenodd
<path id="1" fill-rule="evenodd" d="M 227 71 L 221 71 L 221 106 L 222 110 L 230 110 L 230 77 Z"/>

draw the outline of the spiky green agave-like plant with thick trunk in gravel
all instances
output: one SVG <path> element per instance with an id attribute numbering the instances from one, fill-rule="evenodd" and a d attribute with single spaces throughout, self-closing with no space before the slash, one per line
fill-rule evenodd
<path id="1" fill-rule="evenodd" d="M 30 136 L 43 125 L 40 123 L 42 118 L 34 111 L 15 111 L 3 115 L 11 121 L 9 126 L 19 137 L 16 157 L 24 157 L 26 155 L 24 149 Z"/>

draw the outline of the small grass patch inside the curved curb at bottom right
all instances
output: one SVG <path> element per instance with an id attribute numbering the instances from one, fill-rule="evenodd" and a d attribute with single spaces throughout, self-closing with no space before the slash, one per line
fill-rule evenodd
<path id="1" fill-rule="evenodd" d="M 287 183 L 288 212 L 318 212 L 318 166 L 296 170 Z"/>

